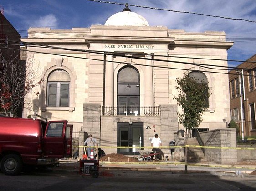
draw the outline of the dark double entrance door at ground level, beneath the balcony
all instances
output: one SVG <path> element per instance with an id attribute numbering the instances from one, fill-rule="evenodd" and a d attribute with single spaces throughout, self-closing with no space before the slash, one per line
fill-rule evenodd
<path id="1" fill-rule="evenodd" d="M 144 146 L 143 123 L 118 123 L 117 146 L 133 147 L 118 148 L 118 153 L 124 155 L 139 155 L 139 148 Z"/>

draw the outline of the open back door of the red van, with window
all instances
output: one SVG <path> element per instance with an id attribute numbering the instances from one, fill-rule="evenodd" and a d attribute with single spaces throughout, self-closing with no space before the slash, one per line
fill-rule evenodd
<path id="1" fill-rule="evenodd" d="M 72 133 L 70 133 L 71 130 L 71 127 L 67 128 L 67 121 L 48 122 L 43 142 L 44 157 L 64 158 L 66 152 L 72 149 L 72 145 L 69 144 L 70 136 L 72 136 Z M 68 142 L 66 135 L 69 137 Z M 70 148 L 67 149 L 68 146 Z"/>

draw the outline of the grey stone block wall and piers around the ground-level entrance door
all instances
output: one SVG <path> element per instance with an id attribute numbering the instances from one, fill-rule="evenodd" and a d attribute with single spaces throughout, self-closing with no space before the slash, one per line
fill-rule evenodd
<path id="1" fill-rule="evenodd" d="M 118 123 L 143 123 L 144 146 L 151 146 L 150 138 L 157 133 L 163 146 L 169 146 L 178 131 L 177 105 L 161 105 L 160 116 L 101 116 L 100 104 L 83 104 L 83 132 L 92 134 L 100 146 L 117 146 Z M 146 129 L 146 126 L 151 129 Z M 155 126 L 155 127 L 153 127 Z M 79 137 L 83 145 L 83 137 Z M 151 151 L 151 149 L 148 149 Z M 163 148 L 164 155 L 170 155 L 170 149 Z M 117 148 L 104 149 L 106 154 L 117 153 Z M 83 153 L 79 148 L 79 153 Z M 80 155 L 80 154 L 79 154 Z"/>

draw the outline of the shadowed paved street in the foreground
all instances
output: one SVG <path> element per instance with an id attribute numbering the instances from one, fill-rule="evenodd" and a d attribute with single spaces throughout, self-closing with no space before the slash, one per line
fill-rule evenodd
<path id="1" fill-rule="evenodd" d="M 256 175 L 205 172 L 101 170 L 98 178 L 76 171 L 41 170 L 20 176 L 0 173 L 1 191 L 255 191 Z"/>

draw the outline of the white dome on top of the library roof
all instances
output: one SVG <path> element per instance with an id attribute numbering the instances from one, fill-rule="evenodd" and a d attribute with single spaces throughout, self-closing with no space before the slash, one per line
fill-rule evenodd
<path id="1" fill-rule="evenodd" d="M 109 17 L 105 26 L 149 26 L 149 24 L 143 16 L 131 11 L 123 11 Z"/>

